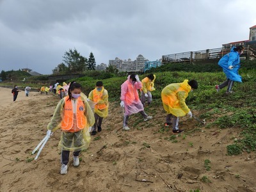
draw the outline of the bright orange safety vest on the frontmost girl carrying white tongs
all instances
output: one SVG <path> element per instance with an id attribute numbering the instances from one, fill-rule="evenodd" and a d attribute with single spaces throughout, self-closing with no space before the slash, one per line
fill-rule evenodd
<path id="1" fill-rule="evenodd" d="M 73 113 L 72 101 L 68 100 L 69 97 L 65 97 L 64 102 L 64 114 L 61 121 L 61 129 L 63 131 L 75 132 L 75 129 L 84 129 L 87 124 L 86 116 L 84 116 L 85 106 L 84 102 L 79 97 L 76 100 L 76 114 Z M 74 116 L 76 118 L 76 127 L 74 127 Z"/>

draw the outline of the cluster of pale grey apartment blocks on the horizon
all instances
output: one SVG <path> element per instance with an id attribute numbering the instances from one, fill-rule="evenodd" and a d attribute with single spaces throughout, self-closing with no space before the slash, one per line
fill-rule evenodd
<path id="1" fill-rule="evenodd" d="M 115 66 L 120 72 L 143 72 L 145 61 L 148 60 L 139 54 L 134 61 L 115 58 L 115 60 L 109 60 L 109 65 Z"/>

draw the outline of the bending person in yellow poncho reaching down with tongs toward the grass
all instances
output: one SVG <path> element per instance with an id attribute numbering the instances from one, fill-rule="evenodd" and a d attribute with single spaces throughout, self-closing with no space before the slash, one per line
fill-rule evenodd
<path id="1" fill-rule="evenodd" d="M 166 127 L 172 123 L 173 134 L 179 134 L 184 130 L 179 129 L 179 117 L 186 114 L 192 118 L 192 113 L 186 105 L 186 98 L 189 92 L 197 89 L 197 81 L 185 79 L 183 83 L 172 83 L 163 88 L 161 98 L 163 101 L 164 110 L 167 112 Z"/>

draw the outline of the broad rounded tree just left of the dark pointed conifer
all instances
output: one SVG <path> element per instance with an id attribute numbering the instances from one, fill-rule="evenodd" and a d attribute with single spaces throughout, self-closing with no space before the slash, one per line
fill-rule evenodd
<path id="1" fill-rule="evenodd" d="M 87 68 L 87 58 L 80 55 L 79 52 L 77 52 L 76 48 L 74 51 L 72 49 L 69 49 L 69 51 L 65 52 L 63 56 L 63 64 L 67 65 L 68 72 L 77 73 L 77 72 L 83 72 Z M 63 65 L 62 65 L 63 66 Z"/>

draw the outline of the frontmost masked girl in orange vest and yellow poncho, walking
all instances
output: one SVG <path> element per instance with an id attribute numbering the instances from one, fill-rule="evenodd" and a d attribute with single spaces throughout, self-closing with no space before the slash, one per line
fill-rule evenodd
<path id="1" fill-rule="evenodd" d="M 79 166 L 81 150 L 90 144 L 89 127 L 94 124 L 94 116 L 87 97 L 81 92 L 81 84 L 72 83 L 68 96 L 60 100 L 51 122 L 47 125 L 47 135 L 61 129 L 61 175 L 67 174 L 70 151 L 73 151 L 73 166 Z"/>

